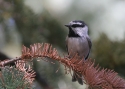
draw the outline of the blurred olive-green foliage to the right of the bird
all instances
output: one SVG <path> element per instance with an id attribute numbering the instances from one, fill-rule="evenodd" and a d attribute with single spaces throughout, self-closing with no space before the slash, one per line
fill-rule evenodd
<path id="1" fill-rule="evenodd" d="M 125 39 L 111 41 L 105 34 L 93 42 L 92 58 L 102 67 L 125 75 Z"/>

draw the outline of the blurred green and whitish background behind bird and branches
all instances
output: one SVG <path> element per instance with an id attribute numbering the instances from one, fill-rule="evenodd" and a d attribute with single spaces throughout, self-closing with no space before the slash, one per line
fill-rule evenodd
<path id="1" fill-rule="evenodd" d="M 90 58 L 125 77 L 125 0 L 0 0 L 0 59 L 21 55 L 21 47 L 48 42 L 67 54 L 65 24 L 83 20 L 92 39 Z M 52 60 L 51 60 L 52 61 Z M 64 67 L 34 61 L 35 89 L 84 89 Z M 60 67 L 60 68 L 59 68 Z M 59 71 L 56 73 L 56 70 Z"/>

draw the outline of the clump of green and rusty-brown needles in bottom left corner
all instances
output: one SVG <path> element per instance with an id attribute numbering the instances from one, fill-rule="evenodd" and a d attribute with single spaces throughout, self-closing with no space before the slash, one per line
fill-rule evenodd
<path id="1" fill-rule="evenodd" d="M 32 89 L 35 72 L 22 60 L 15 65 L 1 67 L 0 89 Z"/>

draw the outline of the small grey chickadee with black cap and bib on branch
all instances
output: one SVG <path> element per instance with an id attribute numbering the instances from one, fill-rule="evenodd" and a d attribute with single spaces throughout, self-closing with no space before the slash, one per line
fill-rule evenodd
<path id="1" fill-rule="evenodd" d="M 86 60 L 92 47 L 92 42 L 88 35 L 88 26 L 81 20 L 71 21 L 65 26 L 69 29 L 68 36 L 66 37 L 66 48 L 69 58 L 72 58 L 77 53 L 79 59 L 84 58 Z M 83 85 L 82 75 L 73 72 L 72 82 L 75 81 Z"/>

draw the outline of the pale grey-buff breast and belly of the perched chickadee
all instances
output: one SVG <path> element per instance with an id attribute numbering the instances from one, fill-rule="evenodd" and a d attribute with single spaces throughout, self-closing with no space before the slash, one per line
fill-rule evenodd
<path id="1" fill-rule="evenodd" d="M 68 53 L 74 56 L 76 53 L 81 57 L 86 57 L 89 53 L 89 45 L 86 37 L 67 38 Z"/>

